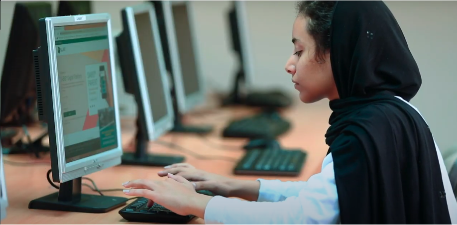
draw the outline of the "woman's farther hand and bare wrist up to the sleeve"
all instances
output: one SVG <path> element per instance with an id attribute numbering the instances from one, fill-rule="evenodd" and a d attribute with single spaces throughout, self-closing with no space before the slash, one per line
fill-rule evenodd
<path id="1" fill-rule="evenodd" d="M 208 190 L 224 197 L 237 197 L 248 201 L 257 201 L 260 183 L 257 181 L 242 181 L 198 170 L 187 163 L 177 163 L 166 166 L 164 171 L 158 172 L 161 177 L 169 173 L 182 176 L 193 182 L 195 190 Z"/>

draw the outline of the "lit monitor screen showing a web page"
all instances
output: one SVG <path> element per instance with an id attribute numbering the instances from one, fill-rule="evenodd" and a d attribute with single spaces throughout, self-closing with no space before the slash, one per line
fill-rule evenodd
<path id="1" fill-rule="evenodd" d="M 54 27 L 66 163 L 117 147 L 108 24 Z"/>

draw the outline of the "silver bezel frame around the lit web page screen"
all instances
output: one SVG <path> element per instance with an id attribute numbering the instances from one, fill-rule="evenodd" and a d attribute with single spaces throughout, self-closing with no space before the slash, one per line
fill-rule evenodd
<path id="1" fill-rule="evenodd" d="M 122 141 L 119 110 L 117 102 L 117 82 L 114 60 L 114 47 L 111 33 L 111 16 L 108 13 L 99 14 L 86 14 L 75 16 L 59 16 L 47 17 L 46 22 L 46 41 L 48 44 L 49 56 L 49 71 L 51 76 L 51 91 L 52 91 L 52 110 L 53 119 L 55 123 L 56 133 L 56 149 L 57 149 L 57 162 L 59 182 L 67 182 L 82 176 L 101 171 L 103 169 L 119 165 L 122 156 Z M 62 110 L 60 107 L 60 87 L 57 74 L 57 56 L 56 45 L 54 36 L 54 27 L 56 26 L 69 26 L 69 25 L 82 25 L 90 23 L 106 22 L 108 25 L 108 42 L 110 48 L 110 66 L 111 66 L 111 81 L 113 85 L 113 103 L 116 121 L 116 134 L 117 134 L 117 147 L 96 155 L 92 155 L 74 162 L 66 163 L 65 160 L 65 145 L 63 138 L 62 127 Z"/>

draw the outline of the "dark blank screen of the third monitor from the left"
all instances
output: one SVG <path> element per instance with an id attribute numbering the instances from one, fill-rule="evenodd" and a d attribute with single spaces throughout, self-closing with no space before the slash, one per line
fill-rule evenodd
<path id="1" fill-rule="evenodd" d="M 197 76 L 197 61 L 186 4 L 173 5 L 173 19 L 175 22 L 184 92 L 186 96 L 189 96 L 199 92 L 200 84 L 199 77 Z"/>

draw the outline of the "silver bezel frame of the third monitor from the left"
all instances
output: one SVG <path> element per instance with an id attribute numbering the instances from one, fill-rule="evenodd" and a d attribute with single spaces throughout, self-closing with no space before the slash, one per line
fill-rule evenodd
<path id="1" fill-rule="evenodd" d="M 192 39 L 192 48 L 194 49 L 194 58 L 195 58 L 195 69 L 198 83 L 199 91 L 194 92 L 190 95 L 185 95 L 184 83 L 183 83 L 183 72 L 181 68 L 181 62 L 179 59 L 179 49 L 176 39 L 176 30 L 175 22 L 173 18 L 172 7 L 174 5 L 185 5 L 187 7 L 187 15 L 190 28 L 190 38 Z M 165 17 L 165 26 L 167 30 L 168 37 L 168 46 L 170 49 L 170 57 L 173 69 L 173 79 L 174 87 L 176 89 L 176 98 L 178 100 L 179 112 L 186 113 L 194 109 L 195 107 L 201 105 L 206 101 L 206 86 L 205 78 L 203 76 L 203 69 L 201 65 L 201 54 L 199 50 L 199 45 L 197 41 L 197 31 L 195 28 L 196 18 L 195 18 L 195 8 L 192 1 L 162 1 L 162 7 Z"/>

